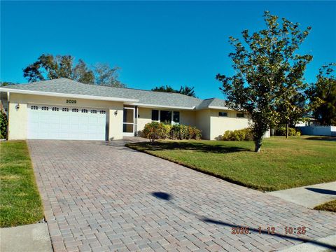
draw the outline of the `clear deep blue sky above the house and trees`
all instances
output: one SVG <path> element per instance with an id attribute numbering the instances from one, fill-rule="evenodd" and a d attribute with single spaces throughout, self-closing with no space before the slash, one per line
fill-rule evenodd
<path id="1" fill-rule="evenodd" d="M 219 97 L 216 73 L 232 73 L 229 36 L 264 28 L 264 10 L 311 26 L 300 52 L 314 56 L 306 78 L 336 61 L 335 1 L 1 1 L 1 80 L 24 83 L 42 53 L 120 66 L 128 87 L 195 86 Z"/>

